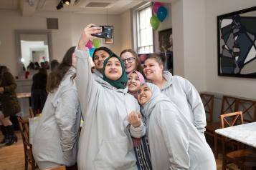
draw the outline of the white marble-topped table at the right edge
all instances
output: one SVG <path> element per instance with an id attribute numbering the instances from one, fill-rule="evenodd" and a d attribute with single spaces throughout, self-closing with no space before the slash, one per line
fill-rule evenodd
<path id="1" fill-rule="evenodd" d="M 256 148 L 256 122 L 217 129 L 215 132 Z"/>

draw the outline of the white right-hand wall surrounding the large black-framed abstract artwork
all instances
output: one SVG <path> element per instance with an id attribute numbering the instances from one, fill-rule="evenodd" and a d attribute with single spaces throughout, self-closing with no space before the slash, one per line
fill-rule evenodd
<path id="1" fill-rule="evenodd" d="M 256 79 L 234 78 L 217 75 L 217 16 L 256 6 L 256 1 L 207 0 L 205 2 L 205 6 L 206 68 L 204 71 L 206 72 L 206 90 L 256 99 Z M 199 36 L 199 34 L 197 34 L 197 36 Z"/>

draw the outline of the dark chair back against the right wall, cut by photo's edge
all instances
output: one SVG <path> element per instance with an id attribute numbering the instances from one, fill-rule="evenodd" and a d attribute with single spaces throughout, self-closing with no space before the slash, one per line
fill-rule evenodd
<path id="1" fill-rule="evenodd" d="M 238 99 L 237 111 L 242 111 L 245 122 L 256 121 L 256 101 L 247 99 Z"/>

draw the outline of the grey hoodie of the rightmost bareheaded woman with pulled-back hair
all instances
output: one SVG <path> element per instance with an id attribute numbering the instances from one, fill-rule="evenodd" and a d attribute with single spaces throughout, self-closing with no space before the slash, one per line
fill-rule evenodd
<path id="1" fill-rule="evenodd" d="M 168 71 L 163 71 L 163 77 L 167 82 L 161 88 L 161 93 L 169 97 L 186 119 L 204 134 L 207 121 L 204 105 L 196 88 L 188 80 L 181 76 L 172 76 Z"/>

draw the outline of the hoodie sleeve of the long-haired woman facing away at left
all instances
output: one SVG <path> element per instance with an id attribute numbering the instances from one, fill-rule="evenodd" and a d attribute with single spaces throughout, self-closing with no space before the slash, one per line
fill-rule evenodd
<path id="1" fill-rule="evenodd" d="M 79 110 L 79 101 L 77 91 L 70 89 L 63 92 L 57 104 L 55 117 L 57 125 L 60 127 L 60 144 L 63 154 L 66 158 L 72 156 L 72 149 L 77 142 L 77 116 Z"/>

